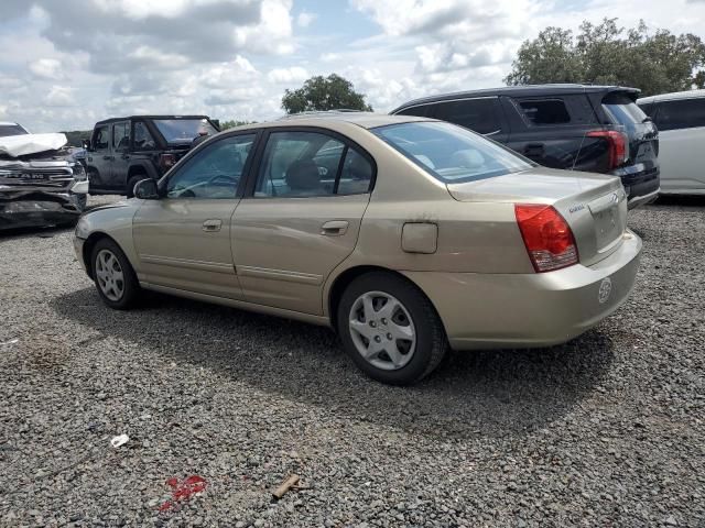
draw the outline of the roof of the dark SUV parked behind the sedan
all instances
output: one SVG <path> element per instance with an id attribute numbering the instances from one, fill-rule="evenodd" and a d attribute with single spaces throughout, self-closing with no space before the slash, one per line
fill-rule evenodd
<path id="1" fill-rule="evenodd" d="M 568 95 L 568 94 L 595 94 L 607 91 L 627 91 L 629 94 L 639 94 L 638 88 L 629 88 L 626 86 L 609 85 L 576 85 L 576 84 L 555 84 L 555 85 L 521 85 L 521 86 L 501 86 L 499 88 L 482 88 L 478 90 L 455 91 L 452 94 L 441 94 L 435 96 L 421 97 L 406 101 L 400 107 L 391 111 L 398 112 L 408 107 L 419 105 L 427 105 L 431 102 L 446 101 L 453 99 L 466 99 L 469 97 L 492 97 L 492 96 L 512 96 L 512 97 L 531 97 L 546 95 Z"/>

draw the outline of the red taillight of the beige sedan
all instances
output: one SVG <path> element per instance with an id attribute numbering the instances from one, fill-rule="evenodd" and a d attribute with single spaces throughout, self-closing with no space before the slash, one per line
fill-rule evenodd
<path id="1" fill-rule="evenodd" d="M 553 207 L 516 204 L 514 215 L 536 273 L 577 264 L 577 246 L 573 231 Z"/>

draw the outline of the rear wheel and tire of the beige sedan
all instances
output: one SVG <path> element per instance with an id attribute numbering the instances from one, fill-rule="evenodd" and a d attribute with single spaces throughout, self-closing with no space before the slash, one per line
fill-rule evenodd
<path id="1" fill-rule="evenodd" d="M 355 278 L 338 302 L 337 327 L 355 364 L 373 380 L 391 385 L 421 381 L 448 349 L 443 323 L 429 298 L 391 273 L 371 272 Z"/>

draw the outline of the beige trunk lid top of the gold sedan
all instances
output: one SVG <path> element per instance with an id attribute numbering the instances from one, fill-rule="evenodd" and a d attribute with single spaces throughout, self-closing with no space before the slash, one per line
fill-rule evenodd
<path id="1" fill-rule="evenodd" d="M 451 196 L 458 201 L 531 201 L 553 204 L 572 195 L 583 195 L 604 188 L 610 183 L 620 187 L 619 179 L 603 174 L 579 173 L 534 167 L 494 178 L 448 184 Z"/>

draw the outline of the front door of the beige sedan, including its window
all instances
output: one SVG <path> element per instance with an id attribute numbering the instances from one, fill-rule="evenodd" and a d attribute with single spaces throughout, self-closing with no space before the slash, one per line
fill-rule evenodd
<path id="1" fill-rule="evenodd" d="M 161 199 L 140 207 L 132 232 L 150 284 L 242 297 L 230 249 L 230 219 L 256 139 L 249 132 L 205 145 L 161 183 Z"/>

